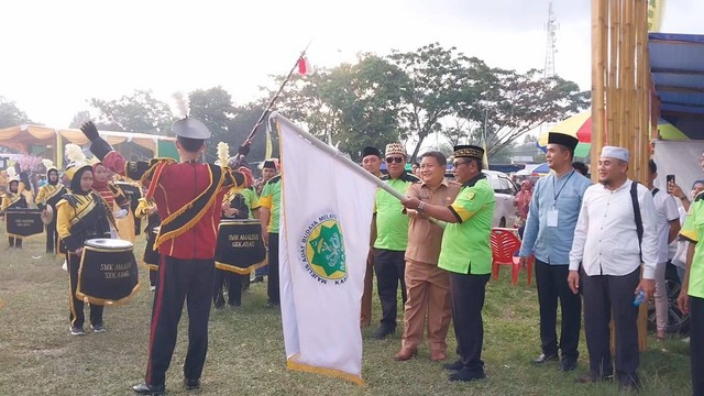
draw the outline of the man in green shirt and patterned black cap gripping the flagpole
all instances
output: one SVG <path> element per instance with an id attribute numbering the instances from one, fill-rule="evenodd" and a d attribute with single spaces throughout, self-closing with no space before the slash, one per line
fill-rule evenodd
<path id="1" fill-rule="evenodd" d="M 442 234 L 438 267 L 450 273 L 452 322 L 460 359 L 443 367 L 455 371 L 450 381 L 482 380 L 484 324 L 482 308 L 486 283 L 492 272 L 490 235 L 494 218 L 494 189 L 482 173 L 484 150 L 473 145 L 454 146 L 452 173 L 462 188 L 450 206 L 432 205 L 408 198 L 407 209 L 447 221 Z"/>

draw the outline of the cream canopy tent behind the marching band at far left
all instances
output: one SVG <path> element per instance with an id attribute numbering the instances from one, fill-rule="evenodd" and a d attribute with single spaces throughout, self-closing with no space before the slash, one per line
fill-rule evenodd
<path id="1" fill-rule="evenodd" d="M 155 157 L 177 157 L 176 150 L 172 143 L 176 141 L 174 138 L 113 131 L 100 131 L 100 136 L 113 146 L 120 143 L 133 142 L 153 152 Z M 47 127 L 26 124 L 0 129 L 0 145 L 25 153 L 29 153 L 32 146 L 52 148 L 51 152 L 54 155 L 52 160 L 54 160 L 59 168 L 63 166 L 62 161 L 64 157 L 65 143 L 85 145 L 88 143 L 88 139 L 77 129 L 56 130 Z"/>

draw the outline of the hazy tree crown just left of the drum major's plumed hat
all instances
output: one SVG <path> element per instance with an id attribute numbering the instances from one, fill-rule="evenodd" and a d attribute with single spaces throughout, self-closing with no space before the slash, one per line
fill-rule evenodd
<path id="1" fill-rule="evenodd" d="M 165 135 L 174 121 L 168 105 L 151 90 L 135 90 L 116 100 L 91 98 L 89 103 L 98 110 L 96 124 L 101 130 Z"/>

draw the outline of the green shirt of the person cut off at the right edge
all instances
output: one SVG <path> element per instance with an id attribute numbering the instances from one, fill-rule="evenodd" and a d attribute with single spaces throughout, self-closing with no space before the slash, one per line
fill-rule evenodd
<path id="1" fill-rule="evenodd" d="M 704 239 L 704 194 L 694 198 L 680 235 L 696 243 L 692 265 L 690 265 L 688 294 L 692 297 L 704 298 L 704 246 L 698 243 Z"/>

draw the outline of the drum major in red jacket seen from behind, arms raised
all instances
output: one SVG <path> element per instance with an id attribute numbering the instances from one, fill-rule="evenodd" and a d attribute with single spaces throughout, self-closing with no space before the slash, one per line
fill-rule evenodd
<path id="1" fill-rule="evenodd" d="M 205 143 L 210 138 L 210 131 L 191 118 L 176 121 L 172 129 L 178 139 L 186 138 L 196 143 Z M 233 172 L 198 161 L 177 163 L 170 158 L 154 158 L 150 162 L 127 162 L 98 135 L 92 123 L 81 130 L 92 143 L 91 152 L 106 167 L 131 179 L 141 179 L 144 186 L 148 186 L 147 197 L 154 199 L 162 218 L 154 243 L 161 254 L 161 263 L 152 309 L 148 363 L 144 384 L 133 389 L 138 394 L 150 395 L 165 392 L 166 370 L 186 299 L 189 329 L 184 384 L 189 389 L 197 388 L 208 348 L 208 318 L 216 271 L 213 257 L 222 199 L 231 187 L 245 187 L 252 176 L 242 168 Z M 249 151 L 249 146 L 241 147 L 241 151 L 246 155 L 244 151 Z"/>

